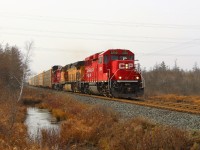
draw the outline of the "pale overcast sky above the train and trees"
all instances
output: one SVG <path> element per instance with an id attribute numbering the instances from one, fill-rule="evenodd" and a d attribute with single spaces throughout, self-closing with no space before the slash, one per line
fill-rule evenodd
<path id="1" fill-rule="evenodd" d="M 200 66 L 199 0 L 0 0 L 0 43 L 23 50 L 31 69 L 84 60 L 110 48 L 133 51 L 141 66 Z"/>

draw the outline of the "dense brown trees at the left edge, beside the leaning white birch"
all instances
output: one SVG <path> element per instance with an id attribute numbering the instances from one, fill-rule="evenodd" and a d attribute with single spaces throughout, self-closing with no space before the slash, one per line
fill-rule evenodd
<path id="1" fill-rule="evenodd" d="M 0 88 L 20 89 L 23 77 L 23 55 L 16 46 L 0 45 Z"/>

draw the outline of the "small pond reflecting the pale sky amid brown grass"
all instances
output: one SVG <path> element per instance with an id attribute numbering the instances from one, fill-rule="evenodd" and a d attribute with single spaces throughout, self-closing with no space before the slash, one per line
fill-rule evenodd
<path id="1" fill-rule="evenodd" d="M 41 131 L 46 130 L 48 133 L 59 134 L 59 124 L 51 123 L 52 116 L 46 109 L 28 108 L 25 124 L 30 139 L 39 140 L 42 136 Z"/>

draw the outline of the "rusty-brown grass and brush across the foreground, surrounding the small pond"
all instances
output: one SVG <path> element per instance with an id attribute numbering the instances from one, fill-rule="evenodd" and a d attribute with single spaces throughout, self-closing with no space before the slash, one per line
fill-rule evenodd
<path id="1" fill-rule="evenodd" d="M 152 150 L 152 149 L 199 149 L 199 133 L 189 133 L 172 127 L 155 125 L 143 119 L 122 121 L 120 115 L 103 106 L 79 103 L 65 93 L 50 90 L 26 89 L 25 104 L 48 108 L 61 122 L 60 135 L 43 131 L 43 139 L 28 142 L 23 124 L 26 107 L 13 102 L 1 105 L 1 114 L 11 115 L 8 110 L 17 107 L 12 130 L 9 118 L 2 116 L 0 124 L 0 149 L 107 149 L 107 150 Z M 7 107 L 9 107 L 9 109 Z M 5 121 L 6 120 L 6 121 Z M 6 130 L 5 130 L 6 129 Z M 4 135 L 4 131 L 12 131 Z M 20 135 L 20 136 L 19 136 Z"/>

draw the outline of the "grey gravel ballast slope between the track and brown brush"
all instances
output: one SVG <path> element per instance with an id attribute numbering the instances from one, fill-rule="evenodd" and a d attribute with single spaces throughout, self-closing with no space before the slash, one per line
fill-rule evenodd
<path id="1" fill-rule="evenodd" d="M 200 115 L 103 100 L 76 94 L 70 95 L 83 103 L 103 105 L 112 108 L 126 119 L 142 117 L 156 124 L 175 126 L 185 130 L 200 130 Z"/>

